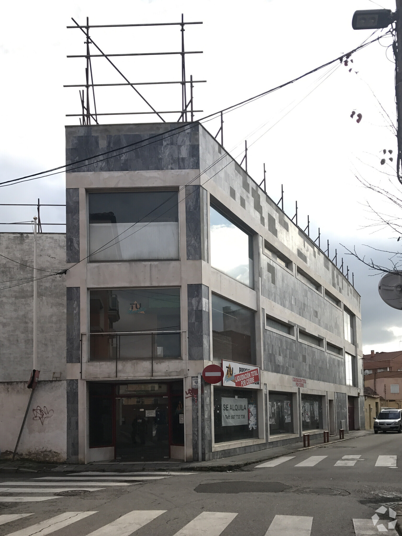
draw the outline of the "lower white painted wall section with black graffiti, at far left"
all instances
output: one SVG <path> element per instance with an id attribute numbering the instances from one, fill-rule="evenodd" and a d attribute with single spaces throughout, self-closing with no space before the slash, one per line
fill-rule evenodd
<path id="1" fill-rule="evenodd" d="M 31 390 L 27 382 L 0 383 L 0 449 L 11 455 L 17 443 Z M 38 461 L 62 462 L 66 459 L 66 383 L 39 381 L 34 391 L 19 457 Z"/>

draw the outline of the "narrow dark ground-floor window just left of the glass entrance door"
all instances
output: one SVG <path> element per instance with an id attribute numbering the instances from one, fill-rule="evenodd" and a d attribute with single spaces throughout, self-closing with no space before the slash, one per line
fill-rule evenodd
<path id="1" fill-rule="evenodd" d="M 113 385 L 88 383 L 90 448 L 113 444 Z"/>

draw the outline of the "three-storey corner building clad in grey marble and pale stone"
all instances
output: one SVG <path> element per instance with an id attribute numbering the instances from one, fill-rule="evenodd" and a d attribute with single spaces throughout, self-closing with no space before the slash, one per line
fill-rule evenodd
<path id="1" fill-rule="evenodd" d="M 202 125 L 68 126 L 66 161 L 68 461 L 364 428 L 359 294 Z"/>

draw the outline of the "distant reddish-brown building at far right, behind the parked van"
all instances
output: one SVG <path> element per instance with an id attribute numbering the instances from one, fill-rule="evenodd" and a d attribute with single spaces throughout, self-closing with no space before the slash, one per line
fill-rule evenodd
<path id="1" fill-rule="evenodd" d="M 381 396 L 381 405 L 402 407 L 402 352 L 363 355 L 364 386 Z"/>

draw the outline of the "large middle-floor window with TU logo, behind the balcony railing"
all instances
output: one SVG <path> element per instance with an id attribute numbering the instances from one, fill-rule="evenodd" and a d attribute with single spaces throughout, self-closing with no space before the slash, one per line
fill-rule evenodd
<path id="1" fill-rule="evenodd" d="M 91 361 L 179 358 L 180 289 L 91 290 L 90 332 Z"/>

